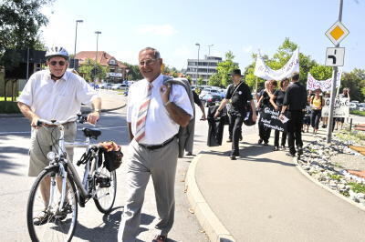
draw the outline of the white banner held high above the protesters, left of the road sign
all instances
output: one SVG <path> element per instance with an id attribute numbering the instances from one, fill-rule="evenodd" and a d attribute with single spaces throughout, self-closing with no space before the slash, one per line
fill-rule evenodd
<path id="1" fill-rule="evenodd" d="M 294 73 L 299 73 L 299 49 L 293 52 L 287 64 L 279 70 L 273 70 L 266 66 L 260 54 L 256 58 L 254 75 L 257 77 L 266 80 L 281 81 L 284 78 L 293 76 Z"/>

